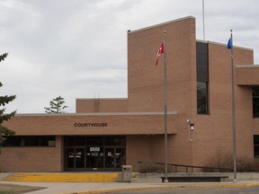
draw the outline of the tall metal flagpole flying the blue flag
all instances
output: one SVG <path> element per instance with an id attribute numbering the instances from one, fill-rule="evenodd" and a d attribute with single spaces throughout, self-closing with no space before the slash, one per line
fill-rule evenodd
<path id="1" fill-rule="evenodd" d="M 235 103 L 235 84 L 234 84 L 234 56 L 233 56 L 233 35 L 230 30 L 231 41 L 231 65 L 232 65 L 232 130 L 233 130 L 233 165 L 234 178 L 233 182 L 237 183 L 237 147 L 236 147 L 236 103 Z"/>

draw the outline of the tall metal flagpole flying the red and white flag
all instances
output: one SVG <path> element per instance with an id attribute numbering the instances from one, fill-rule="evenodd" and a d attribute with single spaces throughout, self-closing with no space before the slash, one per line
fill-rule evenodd
<path id="1" fill-rule="evenodd" d="M 165 33 L 164 31 L 164 52 L 165 52 Z M 166 53 L 166 52 L 165 52 Z M 164 65 L 165 65 L 165 75 L 164 75 L 164 103 L 165 103 L 165 182 L 168 182 L 167 179 L 167 79 L 166 79 L 166 56 L 164 53 Z"/>

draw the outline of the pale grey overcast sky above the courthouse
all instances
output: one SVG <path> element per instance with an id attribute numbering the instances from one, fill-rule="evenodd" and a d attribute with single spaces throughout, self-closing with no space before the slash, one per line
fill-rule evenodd
<path id="1" fill-rule="evenodd" d="M 259 64 L 259 1 L 204 0 L 206 40 L 253 48 Z M 0 95 L 6 108 L 44 113 L 61 95 L 127 98 L 127 31 L 192 15 L 203 39 L 202 0 L 0 0 Z M 100 93 L 100 94 L 99 94 Z"/>

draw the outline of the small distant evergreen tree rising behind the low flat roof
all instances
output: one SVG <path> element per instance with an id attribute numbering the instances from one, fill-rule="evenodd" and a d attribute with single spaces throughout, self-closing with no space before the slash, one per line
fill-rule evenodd
<path id="1" fill-rule="evenodd" d="M 45 112 L 48 114 L 65 113 L 65 111 L 63 111 L 63 110 L 66 109 L 67 106 L 64 105 L 64 103 L 65 103 L 64 98 L 62 98 L 59 95 L 57 98 L 49 101 L 49 106 L 50 106 L 49 108 L 44 107 Z"/>

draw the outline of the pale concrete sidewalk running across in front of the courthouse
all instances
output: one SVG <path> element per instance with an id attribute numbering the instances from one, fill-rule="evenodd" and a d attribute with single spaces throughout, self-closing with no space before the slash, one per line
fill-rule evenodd
<path id="1" fill-rule="evenodd" d="M 44 190 L 31 191 L 30 194 L 72 194 L 102 193 L 104 191 L 147 190 L 163 188 L 201 188 L 201 187 L 253 187 L 259 180 L 233 182 L 168 182 L 168 183 L 128 183 L 128 182 L 17 182 L 0 181 L 3 184 L 43 187 Z"/>

